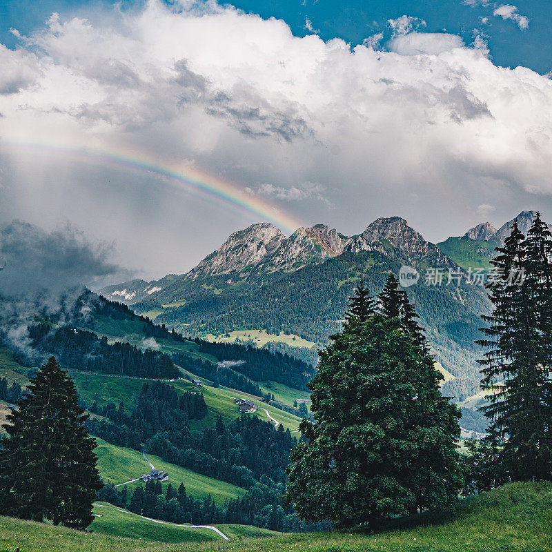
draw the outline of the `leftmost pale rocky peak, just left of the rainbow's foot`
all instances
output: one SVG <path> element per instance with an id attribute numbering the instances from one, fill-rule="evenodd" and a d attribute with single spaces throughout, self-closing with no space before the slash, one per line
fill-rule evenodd
<path id="1" fill-rule="evenodd" d="M 282 230 L 273 224 L 252 224 L 231 234 L 224 244 L 190 270 L 188 277 L 226 274 L 257 266 L 273 255 L 285 239 Z"/>

